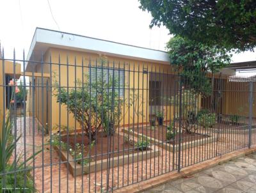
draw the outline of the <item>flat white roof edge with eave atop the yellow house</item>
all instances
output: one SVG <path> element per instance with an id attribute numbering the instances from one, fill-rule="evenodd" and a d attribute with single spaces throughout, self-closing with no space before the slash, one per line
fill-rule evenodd
<path id="1" fill-rule="evenodd" d="M 50 47 L 170 64 L 168 52 L 36 27 L 27 60 L 41 61 Z M 26 64 L 27 66 L 29 63 Z"/>

